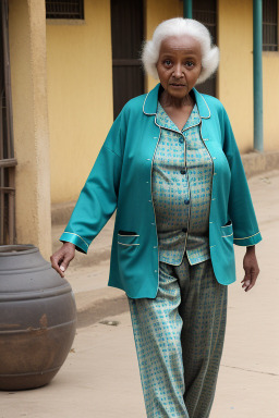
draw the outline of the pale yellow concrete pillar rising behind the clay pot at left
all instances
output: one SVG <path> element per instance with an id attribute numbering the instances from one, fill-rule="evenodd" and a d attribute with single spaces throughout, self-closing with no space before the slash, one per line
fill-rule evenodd
<path id="1" fill-rule="evenodd" d="M 15 222 L 19 244 L 51 254 L 45 0 L 10 0 Z"/>

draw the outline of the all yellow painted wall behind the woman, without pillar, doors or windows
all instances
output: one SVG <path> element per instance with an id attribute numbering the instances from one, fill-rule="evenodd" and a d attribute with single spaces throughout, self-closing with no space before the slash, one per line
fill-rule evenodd
<path id="1" fill-rule="evenodd" d="M 145 0 L 145 35 L 182 16 L 180 0 Z M 253 150 L 253 0 L 218 1 L 217 96 L 241 152 Z M 278 149 L 279 53 L 264 58 L 265 150 Z M 85 0 L 85 22 L 47 21 L 51 200 L 76 199 L 113 121 L 110 1 Z M 146 78 L 146 91 L 158 81 Z"/>

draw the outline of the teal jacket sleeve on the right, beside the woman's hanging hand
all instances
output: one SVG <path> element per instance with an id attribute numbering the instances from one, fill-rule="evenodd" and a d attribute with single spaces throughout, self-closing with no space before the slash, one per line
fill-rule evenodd
<path id="1" fill-rule="evenodd" d="M 223 151 L 231 170 L 229 217 L 233 228 L 233 244 L 251 246 L 262 236 L 242 164 L 240 151 L 226 110 L 223 109 Z"/>

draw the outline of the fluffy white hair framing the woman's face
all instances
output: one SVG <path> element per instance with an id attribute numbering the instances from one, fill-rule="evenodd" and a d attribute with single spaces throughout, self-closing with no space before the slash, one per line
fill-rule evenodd
<path id="1" fill-rule="evenodd" d="M 213 45 L 209 30 L 194 19 L 174 17 L 160 23 L 156 27 L 151 40 L 147 40 L 143 45 L 142 62 L 147 74 L 150 74 L 154 78 L 159 78 L 156 64 L 161 41 L 171 36 L 183 35 L 193 37 L 201 45 L 202 71 L 196 84 L 204 83 L 215 73 L 219 64 L 219 48 Z"/>

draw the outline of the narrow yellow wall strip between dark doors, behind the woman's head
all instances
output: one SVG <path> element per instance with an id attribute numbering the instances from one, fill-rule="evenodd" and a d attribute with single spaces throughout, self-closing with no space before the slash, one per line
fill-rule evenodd
<path id="1" fill-rule="evenodd" d="M 181 17 L 183 15 L 183 2 L 180 0 L 146 0 L 145 7 L 145 35 L 146 39 L 153 37 L 153 33 L 159 23 L 172 17 Z M 158 79 L 146 77 L 146 90 L 150 90 L 156 86 Z"/>

